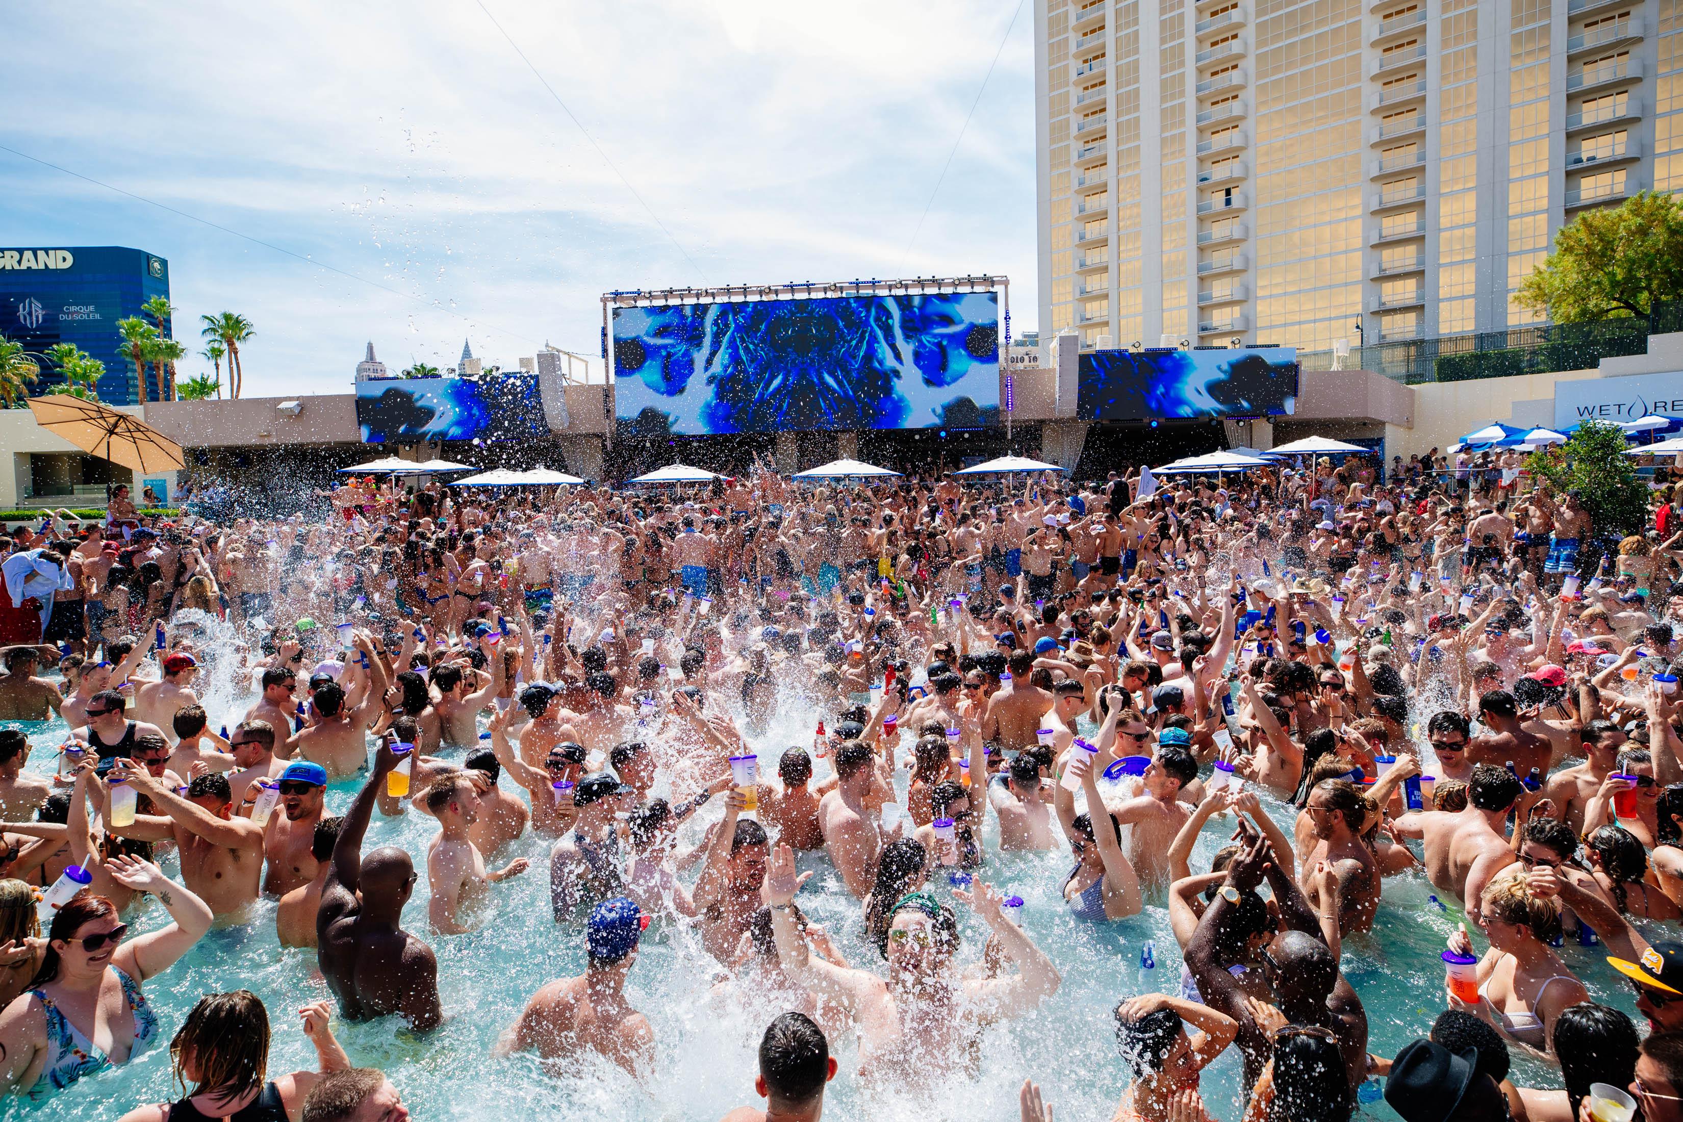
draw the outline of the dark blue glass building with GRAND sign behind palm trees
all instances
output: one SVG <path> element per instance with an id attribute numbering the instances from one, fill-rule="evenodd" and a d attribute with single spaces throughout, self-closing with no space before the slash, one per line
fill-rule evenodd
<path id="1" fill-rule="evenodd" d="M 106 365 L 99 400 L 135 405 L 158 400 L 157 385 L 135 375 L 116 321 L 141 315 L 153 296 L 168 298 L 170 262 L 125 246 L 0 246 L 0 335 L 40 355 L 54 343 L 76 343 Z M 150 318 L 148 318 L 150 320 Z M 165 336 L 173 333 L 165 326 Z M 34 394 L 64 378 L 42 363 Z"/>

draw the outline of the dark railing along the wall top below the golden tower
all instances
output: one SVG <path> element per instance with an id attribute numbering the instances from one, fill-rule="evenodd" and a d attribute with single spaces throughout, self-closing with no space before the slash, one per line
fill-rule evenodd
<path id="1" fill-rule="evenodd" d="M 1648 352 L 1649 335 L 1671 331 L 1683 331 L 1683 301 L 1658 304 L 1646 316 L 1589 323 L 1432 338 L 1420 336 L 1417 330 L 1409 341 L 1387 336 L 1382 343 L 1353 348 L 1345 365 L 1373 370 L 1409 385 L 1594 370 L 1602 358 L 1643 355 Z M 1299 352 L 1298 362 L 1304 370 L 1331 370 L 1333 352 Z"/>

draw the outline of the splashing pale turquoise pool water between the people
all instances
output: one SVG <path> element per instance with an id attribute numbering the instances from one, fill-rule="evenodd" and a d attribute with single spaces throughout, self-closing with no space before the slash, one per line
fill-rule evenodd
<path id="1" fill-rule="evenodd" d="M 766 732 L 751 733 L 761 759 L 774 759 L 791 744 L 811 740 L 816 717 L 794 696 L 778 707 Z M 212 683 L 210 723 L 232 725 L 249 698 L 227 685 Z M 50 745 L 64 738 L 62 722 L 17 723 L 35 745 L 29 770 L 52 772 Z M 826 764 L 820 762 L 820 774 Z M 902 772 L 904 792 L 904 772 Z M 512 781 L 503 779 L 505 787 Z M 342 814 L 358 782 L 337 782 L 328 791 L 328 812 Z M 656 787 L 656 792 L 660 789 Z M 1264 797 L 1276 821 L 1291 831 L 1289 806 Z M 705 819 L 720 814 L 714 802 L 685 824 L 680 838 L 693 844 Z M 1210 856 L 1232 833 L 1230 818 L 1215 818 L 1205 829 L 1193 870 L 1208 868 Z M 401 844 L 424 863 L 436 824 L 416 812 L 382 819 L 369 829 L 364 851 Z M 996 823 L 990 818 L 986 838 L 996 846 Z M 594 1117 L 608 1122 L 648 1119 L 717 1119 L 732 1107 L 759 1103 L 754 1093 L 756 1048 L 771 1013 L 744 1009 L 710 996 L 720 974 L 693 934 L 672 927 L 650 929 L 628 996 L 653 1024 L 658 1045 L 655 1078 L 638 1085 L 608 1063 L 581 1063 L 562 1077 L 544 1072 L 530 1056 L 493 1060 L 498 1035 L 515 1019 L 527 998 L 545 981 L 574 976 L 584 969 L 582 934 L 562 929 L 550 918 L 547 841 L 527 836 L 498 860 L 527 856 L 532 870 L 491 886 L 483 927 L 459 937 L 427 932 L 426 876 L 406 910 L 409 930 L 422 935 L 438 954 L 444 1024 L 426 1038 L 402 1028 L 396 1018 L 350 1024 L 335 1019 L 335 1033 L 357 1065 L 384 1068 L 402 1092 L 417 1119 L 490 1117 Z M 971 1080 L 954 1056 L 931 1055 L 927 1088 L 873 1095 L 853 1077 L 857 1043 L 831 1041 L 840 1075 L 830 1085 L 825 1115 L 830 1119 L 873 1119 L 929 1122 L 958 1117 L 1017 1117 L 1017 1090 L 1025 1077 L 1045 1088 L 1060 1119 L 1109 1119 L 1126 1085 L 1118 1058 L 1112 1009 L 1118 1001 L 1146 989 L 1176 992 L 1180 950 L 1168 927 L 1161 902 L 1144 913 L 1112 925 L 1079 922 L 1069 915 L 1060 888 L 1072 860 L 1067 851 L 1045 856 L 990 855 L 985 878 L 1005 892 L 1023 897 L 1022 925 L 1050 954 L 1064 984 L 1043 1008 L 993 1029 L 983 1043 L 983 1070 Z M 853 966 L 880 966 L 875 949 L 860 939 L 860 910 L 840 878 L 821 858 L 804 858 L 804 868 L 820 870 L 801 893 L 803 908 L 836 940 Z M 165 871 L 177 873 L 173 855 Z M 939 878 L 936 878 L 939 883 Z M 939 892 L 946 892 L 941 885 Z M 1345 942 L 1343 971 L 1367 1006 L 1372 1023 L 1370 1048 L 1394 1055 L 1424 1035 L 1444 1008 L 1444 939 L 1461 920 L 1459 910 L 1444 910 L 1429 900 L 1432 892 L 1419 873 L 1385 881 L 1378 912 L 1378 934 Z M 959 907 L 961 962 L 973 962 L 986 939 L 985 925 Z M 163 910 L 148 905 L 136 927 L 145 930 L 165 922 Z M 1146 940 L 1156 942 L 1156 969 L 1139 969 Z M 1483 949 L 1483 939 L 1474 934 Z M 1602 950 L 1569 945 L 1565 961 L 1585 981 L 1595 1001 L 1638 1016 L 1634 994 L 1604 961 Z M 40 1117 L 56 1122 L 106 1120 L 143 1102 L 168 1100 L 180 1092 L 170 1078 L 168 1036 L 180 1026 L 192 1004 L 209 991 L 246 987 L 257 992 L 269 1009 L 274 1045 L 269 1070 L 313 1068 L 315 1053 L 298 1031 L 296 1009 L 328 998 L 316 972 L 313 950 L 283 950 L 274 935 L 274 905 L 261 902 L 246 927 L 210 932 L 163 976 L 146 982 L 146 996 L 162 1018 L 158 1046 L 125 1068 L 82 1080 L 69 1092 L 44 1103 L 8 1100 L 0 1119 Z M 1641 1019 L 1638 1018 L 1641 1023 Z M 1520 1085 L 1560 1087 L 1558 1070 L 1515 1055 L 1513 1080 Z M 1244 1112 L 1239 1100 L 1239 1058 L 1230 1050 L 1205 1073 L 1203 1095 L 1213 1117 L 1232 1120 Z M 1395 1117 L 1382 1102 L 1363 1107 L 1367 1117 Z"/>

